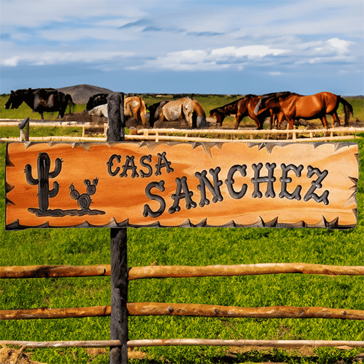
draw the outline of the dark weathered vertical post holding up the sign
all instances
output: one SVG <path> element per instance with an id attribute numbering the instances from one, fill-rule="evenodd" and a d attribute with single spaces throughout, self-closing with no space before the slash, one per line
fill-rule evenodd
<path id="1" fill-rule="evenodd" d="M 124 94 L 108 96 L 108 142 L 124 142 Z M 111 321 L 110 339 L 120 340 L 120 346 L 110 348 L 110 364 L 127 363 L 128 341 L 128 267 L 126 228 L 112 228 L 111 242 Z"/>

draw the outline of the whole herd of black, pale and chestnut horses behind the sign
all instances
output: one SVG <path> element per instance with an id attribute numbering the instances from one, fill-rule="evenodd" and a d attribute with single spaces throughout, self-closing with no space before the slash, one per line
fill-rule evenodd
<path id="1" fill-rule="evenodd" d="M 86 110 L 90 115 L 107 117 L 108 94 L 96 94 L 89 98 Z M 70 95 L 65 95 L 54 88 L 19 89 L 12 91 L 6 109 L 12 106 L 17 109 L 25 102 L 34 112 L 41 114 L 44 111 L 58 111 L 58 117 L 63 117 L 68 105 L 74 105 Z M 323 126 L 328 128 L 326 115 L 333 117 L 334 125 L 340 125 L 337 114 L 339 103 L 344 106 L 344 125 L 348 124 L 352 106 L 342 97 L 321 92 L 315 95 L 303 96 L 291 92 L 270 93 L 264 95 L 245 95 L 239 100 L 210 110 L 210 117 L 216 118 L 216 124 L 222 127 L 224 118 L 235 115 L 234 128 L 238 129 L 243 117 L 249 116 L 257 126 L 263 128 L 263 122 L 270 118 L 270 128 L 280 128 L 283 121 L 287 121 L 288 127 L 293 129 L 294 121 L 299 119 L 320 119 Z M 149 120 L 146 114 L 149 110 Z M 168 121 L 184 121 L 187 127 L 203 128 L 207 126 L 206 114 L 202 106 L 190 97 L 184 97 L 173 101 L 160 101 L 147 106 L 139 96 L 126 97 L 124 99 L 124 116 L 132 118 L 144 127 L 162 127 L 168 125 Z"/>

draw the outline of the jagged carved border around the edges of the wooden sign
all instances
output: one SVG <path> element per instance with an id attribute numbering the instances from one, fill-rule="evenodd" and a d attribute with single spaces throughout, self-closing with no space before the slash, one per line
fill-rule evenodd
<path id="1" fill-rule="evenodd" d="M 9 154 L 8 154 L 8 145 L 10 143 L 22 143 L 22 142 L 8 142 L 7 148 L 6 148 L 6 167 L 14 167 L 14 164 L 10 161 Z M 90 148 L 93 145 L 107 145 L 109 148 L 111 148 L 115 144 L 135 144 L 135 142 L 25 142 L 24 149 L 31 147 L 35 144 L 49 144 L 50 147 L 56 145 L 56 144 L 68 144 L 71 145 L 72 148 L 81 147 L 86 151 L 89 151 Z M 222 148 L 223 143 L 226 142 L 139 142 L 138 148 L 142 148 L 146 146 L 151 152 L 154 150 L 154 148 L 161 144 L 167 144 L 168 146 L 174 146 L 178 144 L 191 144 L 192 148 L 195 149 L 199 146 L 202 146 L 205 153 L 212 158 L 211 155 L 211 149 L 213 147 L 216 147 L 218 149 Z M 326 145 L 328 142 L 307 142 L 306 144 L 310 144 L 313 146 L 313 149 L 320 147 L 321 145 Z M 247 145 L 249 148 L 258 147 L 258 150 L 261 150 L 263 148 L 266 149 L 266 151 L 270 154 L 272 150 L 275 147 L 285 147 L 290 144 L 297 144 L 295 142 L 263 142 L 263 143 L 254 143 L 254 142 L 248 142 Z M 337 151 L 341 148 L 348 147 L 351 145 L 356 145 L 356 143 L 353 142 L 337 142 L 337 143 L 330 143 L 334 145 L 334 151 Z M 359 156 L 357 153 L 355 153 L 355 158 L 357 162 L 359 163 Z M 6 173 L 6 170 L 5 170 Z M 350 190 L 353 191 L 352 195 L 349 197 L 349 199 L 345 202 L 344 205 L 350 204 L 352 202 L 356 202 L 356 192 L 357 192 L 357 178 L 350 177 L 350 180 L 353 182 L 353 186 L 350 188 Z M 5 178 L 6 179 L 6 178 Z M 7 198 L 7 193 L 10 192 L 14 186 L 9 185 L 6 183 L 5 186 L 5 200 L 6 204 L 14 204 L 12 201 L 10 201 Z M 352 209 L 353 213 L 355 214 L 355 217 L 357 218 L 357 209 Z M 321 217 L 321 220 L 318 221 L 315 224 L 308 224 L 305 221 L 297 221 L 297 222 L 279 222 L 279 218 L 276 217 L 270 221 L 264 221 L 260 216 L 258 216 L 258 219 L 251 224 L 238 224 L 234 220 L 231 220 L 225 224 L 221 225 L 209 225 L 207 223 L 207 218 L 201 220 L 197 224 L 193 224 L 190 219 L 187 219 L 183 223 L 179 225 L 161 225 L 159 221 L 149 223 L 149 224 L 129 224 L 129 220 L 126 219 L 121 222 L 117 222 L 117 220 L 113 217 L 107 224 L 102 225 L 94 225 L 89 223 L 87 220 L 83 221 L 80 224 L 77 225 L 71 225 L 71 226 L 57 226 L 57 225 L 50 225 L 49 222 L 44 222 L 37 226 L 27 226 L 27 225 L 21 225 L 19 223 L 19 219 L 14 220 L 13 222 L 7 224 L 5 226 L 5 230 L 25 230 L 25 229 L 40 229 L 40 228 L 50 228 L 50 229 L 59 229 L 59 228 L 328 228 L 328 229 L 352 229 L 355 228 L 356 224 L 349 224 L 349 225 L 340 225 L 339 224 L 339 217 L 336 217 L 332 221 L 328 221 L 325 216 Z"/>

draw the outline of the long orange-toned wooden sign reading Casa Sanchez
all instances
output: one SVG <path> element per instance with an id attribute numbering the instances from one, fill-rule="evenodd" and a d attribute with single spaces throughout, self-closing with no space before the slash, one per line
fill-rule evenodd
<path id="1" fill-rule="evenodd" d="M 356 143 L 9 143 L 6 229 L 356 226 Z"/>

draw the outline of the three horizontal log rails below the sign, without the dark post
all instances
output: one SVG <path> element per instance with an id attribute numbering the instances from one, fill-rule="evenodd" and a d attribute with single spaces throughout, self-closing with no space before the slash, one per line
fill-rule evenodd
<path id="1" fill-rule="evenodd" d="M 364 266 L 337 266 L 307 263 L 260 263 L 210 266 L 138 266 L 129 267 L 127 279 L 229 277 L 264 274 L 310 274 L 329 276 L 364 276 Z M 111 265 L 36 265 L 4 266 L 0 268 L 1 279 L 66 278 L 66 277 L 111 276 Z M 363 320 L 364 311 L 328 307 L 234 307 L 204 304 L 135 302 L 127 303 L 127 316 L 178 315 L 199 317 L 249 317 L 249 318 L 295 318 L 295 319 L 341 319 Z M 110 316 L 112 306 L 76 308 L 37 308 L 1 310 L 2 320 L 65 319 L 67 317 Z M 90 341 L 0 341 L 2 345 L 19 345 L 29 348 L 43 347 L 120 347 L 121 340 Z M 215 339 L 139 339 L 127 340 L 126 348 L 146 346 L 236 346 L 236 347 L 364 347 L 364 341 L 343 340 L 215 340 Z M 112 361 L 110 361 L 112 362 Z M 114 361 L 118 362 L 118 361 Z M 121 361 L 126 362 L 126 361 Z"/>

